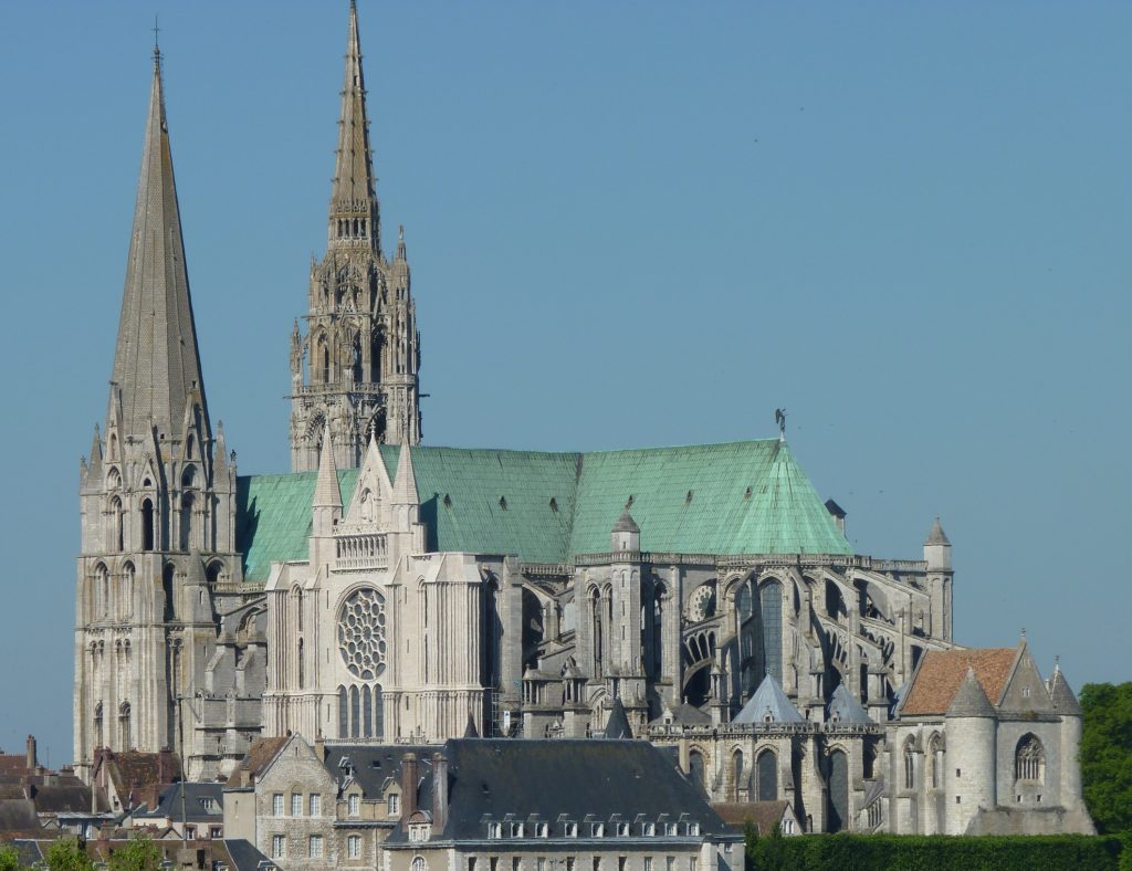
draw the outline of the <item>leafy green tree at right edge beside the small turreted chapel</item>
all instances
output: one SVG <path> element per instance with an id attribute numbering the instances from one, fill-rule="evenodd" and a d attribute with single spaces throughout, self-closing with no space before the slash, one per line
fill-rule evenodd
<path id="1" fill-rule="evenodd" d="M 1132 682 L 1081 688 L 1081 784 L 1101 833 L 1132 831 Z"/>

